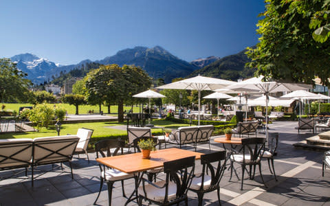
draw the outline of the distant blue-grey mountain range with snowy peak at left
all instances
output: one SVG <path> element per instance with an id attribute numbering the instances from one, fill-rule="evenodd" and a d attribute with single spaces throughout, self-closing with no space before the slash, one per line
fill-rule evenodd
<path id="1" fill-rule="evenodd" d="M 50 80 L 63 75 L 63 73 L 72 71 L 72 69 L 79 69 L 82 65 L 92 62 L 91 60 L 83 60 L 76 65 L 59 65 L 45 58 L 39 58 L 28 53 L 12 56 L 10 59 L 17 63 L 18 69 L 28 73 L 28 79 L 32 80 L 34 84 L 40 84 L 45 81 L 50 82 Z M 223 66 L 219 67 L 219 64 L 223 65 L 224 62 L 227 66 L 224 67 L 225 71 L 221 71 Z M 237 74 L 243 74 L 241 71 L 244 70 L 245 62 L 248 62 L 248 58 L 243 53 L 224 58 L 210 56 L 208 58 L 199 58 L 192 62 L 186 62 L 173 56 L 173 54 L 170 54 L 166 49 L 159 46 L 153 48 L 134 47 L 123 49 L 113 56 L 107 56 L 102 60 L 94 61 L 94 63 L 102 65 L 139 66 L 152 78 L 164 78 L 166 83 L 171 82 L 173 78 L 184 78 L 195 75 L 196 73 L 217 77 L 219 73 L 225 73 L 228 69 L 237 71 Z M 231 66 L 233 68 L 230 68 Z M 231 77 L 230 79 L 236 78 L 235 75 Z"/>

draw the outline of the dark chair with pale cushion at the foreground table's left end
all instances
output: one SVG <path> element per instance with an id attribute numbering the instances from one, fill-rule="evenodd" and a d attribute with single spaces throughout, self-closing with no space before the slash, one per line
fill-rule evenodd
<path id="1" fill-rule="evenodd" d="M 118 151 L 121 150 L 121 154 L 123 153 L 123 148 L 125 146 L 124 141 L 118 139 L 106 139 L 102 141 L 98 141 L 95 144 L 96 150 L 96 158 L 100 157 L 111 157 L 118 155 Z M 107 152 L 104 153 L 104 150 Z M 112 153 L 112 154 L 111 154 Z M 108 196 L 109 196 L 109 205 L 111 205 L 111 196 L 112 196 L 112 186 L 116 181 L 122 182 L 122 195 L 126 197 L 124 192 L 124 180 L 126 179 L 135 179 L 135 184 L 137 183 L 137 177 L 134 174 L 127 174 L 125 172 L 120 172 L 119 170 L 115 170 L 113 168 L 106 168 L 105 165 L 99 164 L 100 166 L 100 190 L 98 192 L 98 196 L 94 201 L 94 205 L 96 205 L 96 201 L 98 201 L 98 197 L 100 196 L 100 192 L 102 190 L 103 182 L 105 181 L 108 185 Z"/>

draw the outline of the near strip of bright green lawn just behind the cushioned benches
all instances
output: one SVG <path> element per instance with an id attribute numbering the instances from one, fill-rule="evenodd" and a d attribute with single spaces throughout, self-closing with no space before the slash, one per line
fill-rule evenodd
<path id="1" fill-rule="evenodd" d="M 178 128 L 179 126 L 188 126 L 188 124 L 177 124 L 175 122 L 165 121 L 163 119 L 155 119 L 152 122 L 155 126 L 162 126 L 165 128 Z M 114 128 L 109 128 L 109 126 L 124 125 L 126 123 L 119 124 L 118 122 L 93 122 L 93 123 L 79 123 L 79 124 L 63 124 L 61 126 L 61 134 L 74 135 L 77 133 L 78 128 L 91 128 L 94 130 L 93 136 L 98 137 L 115 137 L 115 136 L 125 136 L 127 135 L 126 130 L 118 130 Z M 152 133 L 161 133 L 162 129 L 154 128 L 151 130 Z M 56 136 L 57 132 L 54 126 L 50 128 L 41 128 L 39 132 L 28 132 L 28 133 L 8 133 L 1 134 L 0 139 L 11 139 L 11 138 L 36 138 L 36 137 L 51 137 Z"/>

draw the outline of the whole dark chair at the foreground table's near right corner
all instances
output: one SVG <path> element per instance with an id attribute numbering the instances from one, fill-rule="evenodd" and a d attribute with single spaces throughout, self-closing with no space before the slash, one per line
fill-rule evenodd
<path id="1" fill-rule="evenodd" d="M 203 202 L 203 195 L 207 192 L 217 190 L 218 201 L 220 203 L 220 181 L 225 171 L 225 154 L 226 151 L 214 152 L 207 155 L 201 155 L 201 164 L 203 168 L 200 174 L 196 174 L 192 178 L 192 183 L 189 190 L 196 192 L 198 196 L 198 205 L 201 206 Z M 221 164 L 221 161 L 223 163 Z M 217 162 L 217 167 L 214 168 L 211 163 Z M 208 175 L 210 174 L 210 175 Z"/>

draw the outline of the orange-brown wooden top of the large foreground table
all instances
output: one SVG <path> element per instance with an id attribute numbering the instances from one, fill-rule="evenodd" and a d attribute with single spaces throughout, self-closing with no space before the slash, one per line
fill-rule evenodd
<path id="1" fill-rule="evenodd" d="M 151 159 L 142 159 L 142 152 L 137 152 L 128 155 L 98 158 L 96 161 L 107 165 L 108 167 L 132 174 L 135 172 L 162 168 L 164 162 L 184 157 L 195 156 L 196 159 L 201 159 L 201 155 L 203 155 L 201 152 L 192 152 L 190 150 L 182 150 L 179 148 L 168 148 L 151 151 Z"/>

